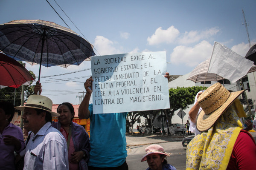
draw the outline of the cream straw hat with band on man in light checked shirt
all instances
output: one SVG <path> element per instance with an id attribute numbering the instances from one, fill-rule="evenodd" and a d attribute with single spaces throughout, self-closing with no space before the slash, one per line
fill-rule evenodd
<path id="1" fill-rule="evenodd" d="M 48 111 L 51 113 L 51 115 L 54 116 L 60 116 L 59 113 L 52 112 L 52 100 L 49 99 L 46 96 L 41 95 L 30 95 L 28 98 L 28 101 L 26 102 L 25 106 L 17 106 L 16 109 L 20 111 L 24 111 L 25 108 L 35 108 L 35 109 L 41 109 L 44 111 Z"/>

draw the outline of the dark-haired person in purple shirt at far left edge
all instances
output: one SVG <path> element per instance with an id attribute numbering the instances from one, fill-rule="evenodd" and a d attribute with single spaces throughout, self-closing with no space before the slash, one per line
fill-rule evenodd
<path id="1" fill-rule="evenodd" d="M 14 105 L 0 102 L 0 170 L 15 170 L 14 151 L 19 153 L 24 149 L 21 128 L 10 123 L 14 113 Z"/>

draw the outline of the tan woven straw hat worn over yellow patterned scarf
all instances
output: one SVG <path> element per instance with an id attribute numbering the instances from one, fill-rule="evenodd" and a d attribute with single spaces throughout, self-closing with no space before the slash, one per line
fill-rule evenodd
<path id="1" fill-rule="evenodd" d="M 200 132 L 209 130 L 221 114 L 245 90 L 229 92 L 220 83 L 207 88 L 199 97 L 198 104 L 203 109 L 198 115 L 196 128 Z"/>

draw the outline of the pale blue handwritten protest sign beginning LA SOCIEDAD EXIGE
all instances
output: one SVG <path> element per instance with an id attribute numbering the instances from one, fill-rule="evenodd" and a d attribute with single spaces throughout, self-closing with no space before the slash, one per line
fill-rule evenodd
<path id="1" fill-rule="evenodd" d="M 93 113 L 170 108 L 166 52 L 91 57 Z"/>

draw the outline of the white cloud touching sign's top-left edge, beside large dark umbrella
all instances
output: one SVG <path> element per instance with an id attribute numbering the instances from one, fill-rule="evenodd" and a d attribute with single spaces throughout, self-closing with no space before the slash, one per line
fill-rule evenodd
<path id="1" fill-rule="evenodd" d="M 94 47 L 99 52 L 100 55 L 111 55 L 111 54 L 120 54 L 122 53 L 121 50 L 117 49 L 114 46 L 114 42 L 108 40 L 103 36 L 96 36 L 94 40 Z"/>

